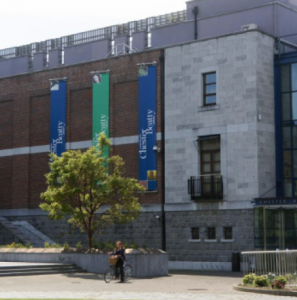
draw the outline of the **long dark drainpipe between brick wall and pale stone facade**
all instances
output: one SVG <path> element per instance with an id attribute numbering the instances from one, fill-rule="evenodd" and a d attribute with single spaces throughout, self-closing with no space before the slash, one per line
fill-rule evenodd
<path id="1" fill-rule="evenodd" d="M 161 149 L 162 149 L 162 250 L 166 251 L 166 212 L 165 212 L 165 54 L 159 56 L 161 65 Z"/>

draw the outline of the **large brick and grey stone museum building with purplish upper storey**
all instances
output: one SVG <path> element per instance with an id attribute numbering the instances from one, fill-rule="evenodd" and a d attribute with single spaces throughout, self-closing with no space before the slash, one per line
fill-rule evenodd
<path id="1" fill-rule="evenodd" d="M 185 269 L 230 270 L 232 252 L 296 249 L 296 14 L 290 0 L 198 0 L 182 12 L 0 50 L 0 215 L 57 242 L 81 239 L 37 209 L 49 79 L 67 77 L 67 147 L 84 149 L 90 73 L 110 70 L 113 151 L 137 178 L 138 65 L 149 63 L 157 186 L 141 197 L 139 220 L 102 238 L 166 246 L 170 267 Z"/>

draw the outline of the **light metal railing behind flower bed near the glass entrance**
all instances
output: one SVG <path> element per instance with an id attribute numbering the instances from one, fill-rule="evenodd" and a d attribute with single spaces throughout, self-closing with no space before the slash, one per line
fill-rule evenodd
<path id="1" fill-rule="evenodd" d="M 276 276 L 297 272 L 297 250 L 242 252 L 244 274 Z"/>

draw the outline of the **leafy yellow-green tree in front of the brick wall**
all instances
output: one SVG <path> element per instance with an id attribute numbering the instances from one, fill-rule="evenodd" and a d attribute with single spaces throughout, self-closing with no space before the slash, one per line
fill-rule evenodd
<path id="1" fill-rule="evenodd" d="M 124 161 L 107 157 L 110 141 L 102 133 L 97 147 L 87 151 L 68 150 L 61 157 L 50 154 L 47 190 L 40 208 L 53 220 L 64 219 L 88 234 L 89 248 L 94 233 L 115 223 L 137 218 L 141 206 L 136 196 L 143 187 L 124 176 Z"/>

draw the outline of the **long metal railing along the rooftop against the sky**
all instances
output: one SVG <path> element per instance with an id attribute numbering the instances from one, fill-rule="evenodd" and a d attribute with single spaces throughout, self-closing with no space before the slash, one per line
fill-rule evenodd
<path id="1" fill-rule="evenodd" d="M 64 49 L 67 46 L 78 45 L 101 39 L 113 40 L 117 35 L 132 36 L 133 32 L 146 31 L 149 33 L 152 28 L 183 22 L 187 19 L 186 10 L 178 11 L 162 16 L 151 17 L 139 21 L 128 22 L 91 31 L 81 32 L 56 39 L 50 39 L 39 43 L 32 43 L 20 47 L 12 47 L 0 50 L 0 59 L 13 58 L 18 56 L 33 57 L 36 52 L 48 53 L 52 49 Z"/>

